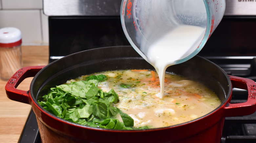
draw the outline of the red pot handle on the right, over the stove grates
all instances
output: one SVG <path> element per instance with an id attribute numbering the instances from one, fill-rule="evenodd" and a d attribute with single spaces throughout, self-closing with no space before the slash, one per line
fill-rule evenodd
<path id="1" fill-rule="evenodd" d="M 256 111 L 256 83 L 247 78 L 231 76 L 232 87 L 248 90 L 248 99 L 245 103 L 227 103 L 224 107 L 225 117 L 250 115 Z"/>

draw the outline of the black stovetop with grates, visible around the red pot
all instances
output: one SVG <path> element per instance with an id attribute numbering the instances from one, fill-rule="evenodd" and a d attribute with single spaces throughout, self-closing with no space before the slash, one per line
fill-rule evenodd
<path id="1" fill-rule="evenodd" d="M 256 57 L 205 57 L 219 65 L 228 75 L 252 79 L 256 82 Z M 248 91 L 233 89 L 231 103 L 246 102 Z M 19 143 L 41 143 L 34 112 L 31 110 Z M 243 117 L 226 117 L 220 143 L 255 143 L 256 112 Z"/>

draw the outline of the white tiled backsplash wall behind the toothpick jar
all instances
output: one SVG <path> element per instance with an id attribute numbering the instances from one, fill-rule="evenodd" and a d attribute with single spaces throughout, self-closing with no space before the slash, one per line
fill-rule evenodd
<path id="1" fill-rule="evenodd" d="M 49 45 L 43 0 L 0 0 L 0 28 L 3 27 L 20 29 L 22 45 Z"/>

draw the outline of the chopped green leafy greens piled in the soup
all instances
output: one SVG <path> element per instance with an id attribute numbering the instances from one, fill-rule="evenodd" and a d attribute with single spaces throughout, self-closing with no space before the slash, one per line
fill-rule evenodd
<path id="1" fill-rule="evenodd" d="M 81 125 L 117 130 L 147 129 L 148 126 L 133 127 L 134 120 L 113 106 L 119 102 L 113 89 L 103 92 L 97 87 L 106 79 L 107 76 L 102 74 L 91 75 L 85 81 L 56 86 L 38 103 L 57 117 Z M 114 118 L 117 114 L 123 122 Z"/>

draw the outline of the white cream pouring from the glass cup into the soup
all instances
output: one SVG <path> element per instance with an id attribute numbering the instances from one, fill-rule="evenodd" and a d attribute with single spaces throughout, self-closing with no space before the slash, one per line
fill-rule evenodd
<path id="1" fill-rule="evenodd" d="M 160 79 L 160 93 L 164 96 L 164 74 L 167 67 L 178 60 L 187 57 L 198 48 L 203 39 L 205 28 L 199 26 L 181 25 L 153 42 L 148 49 L 148 62 L 152 64 Z"/>

